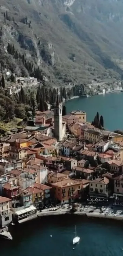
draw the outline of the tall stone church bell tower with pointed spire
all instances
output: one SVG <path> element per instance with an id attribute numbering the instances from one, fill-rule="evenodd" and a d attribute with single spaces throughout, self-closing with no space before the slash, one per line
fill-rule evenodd
<path id="1" fill-rule="evenodd" d="M 58 141 L 63 139 L 62 133 L 62 104 L 59 103 L 57 94 L 56 106 L 54 107 L 54 136 Z"/>

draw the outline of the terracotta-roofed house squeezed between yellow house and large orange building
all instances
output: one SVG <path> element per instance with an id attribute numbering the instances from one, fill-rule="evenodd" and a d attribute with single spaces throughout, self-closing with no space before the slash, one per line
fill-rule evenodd
<path id="1" fill-rule="evenodd" d="M 44 185 L 44 184 L 35 183 L 34 188 L 38 188 L 43 191 L 43 204 L 44 205 L 51 203 L 52 187 Z"/>

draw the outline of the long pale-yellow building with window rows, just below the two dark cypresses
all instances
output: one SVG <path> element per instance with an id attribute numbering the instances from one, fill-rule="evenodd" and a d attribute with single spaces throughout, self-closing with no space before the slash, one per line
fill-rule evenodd
<path id="1" fill-rule="evenodd" d="M 104 135 L 101 131 L 93 130 L 93 129 L 86 129 L 84 130 L 84 139 L 92 142 L 98 142 Z"/>

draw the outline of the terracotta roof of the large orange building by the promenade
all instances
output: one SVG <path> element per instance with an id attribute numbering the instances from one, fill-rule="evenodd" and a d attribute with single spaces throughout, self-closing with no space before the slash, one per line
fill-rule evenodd
<path id="1" fill-rule="evenodd" d="M 59 187 L 59 188 L 64 188 L 64 187 L 71 187 L 71 186 L 80 185 L 80 184 L 81 184 L 81 181 L 79 181 L 79 180 L 75 181 L 73 179 L 66 179 L 66 180 L 52 183 L 51 185 L 55 186 L 55 187 Z"/>

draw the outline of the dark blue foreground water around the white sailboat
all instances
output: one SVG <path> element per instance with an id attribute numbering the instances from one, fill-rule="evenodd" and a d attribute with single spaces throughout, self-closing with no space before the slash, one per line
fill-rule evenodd
<path id="1" fill-rule="evenodd" d="M 122 256 L 123 223 L 82 216 L 41 218 L 12 227 L 13 241 L 0 242 L 2 256 Z M 73 250 L 74 224 L 80 242 Z M 52 237 L 50 237 L 52 235 Z"/>

